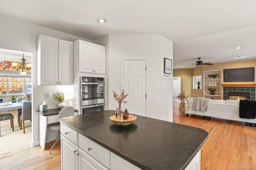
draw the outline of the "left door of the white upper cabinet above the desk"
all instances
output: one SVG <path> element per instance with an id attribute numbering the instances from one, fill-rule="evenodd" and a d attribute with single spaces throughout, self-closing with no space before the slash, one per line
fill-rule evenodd
<path id="1" fill-rule="evenodd" d="M 58 39 L 40 35 L 37 57 L 37 84 L 58 84 Z"/>

